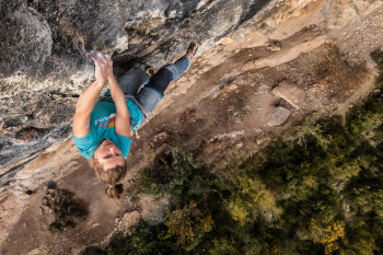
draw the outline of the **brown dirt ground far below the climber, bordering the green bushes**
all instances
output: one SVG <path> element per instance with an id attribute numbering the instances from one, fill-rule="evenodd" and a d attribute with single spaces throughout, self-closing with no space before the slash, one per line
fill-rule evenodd
<path id="1" fill-rule="evenodd" d="M 228 50 L 227 43 L 222 43 L 194 59 L 188 72 L 170 85 L 140 129 L 141 139 L 134 142 L 127 158 L 125 187 L 134 187 L 139 171 L 170 143 L 196 150 L 198 162 L 212 165 L 227 149 L 240 150 L 247 141 L 262 143 L 278 137 L 307 114 L 344 115 L 373 88 L 374 66 L 369 54 L 383 47 L 382 23 L 376 22 L 383 20 L 382 9 L 358 19 L 357 26 L 350 23 L 341 33 L 306 27 L 278 42 L 278 50 L 267 45 Z M 271 93 L 281 81 L 304 90 L 302 108 Z M 289 108 L 292 114 L 282 126 L 269 127 L 266 116 L 276 106 Z M 73 147 L 69 140 L 62 150 Z M 78 254 L 85 246 L 106 244 L 113 233 L 123 230 L 126 212 L 138 210 L 141 216 L 161 219 L 166 202 L 156 207 L 154 199 L 132 204 L 125 198 L 118 205 L 106 198 L 105 185 L 79 153 L 68 153 L 62 160 L 67 161 L 61 165 L 62 174 L 54 179 L 86 202 L 88 219 L 74 229 L 50 233 L 53 213 L 40 209 L 44 183 L 34 188 L 36 193 L 30 196 L 26 209 L 9 230 L 1 254 Z M 66 175 L 69 165 L 71 171 Z"/>

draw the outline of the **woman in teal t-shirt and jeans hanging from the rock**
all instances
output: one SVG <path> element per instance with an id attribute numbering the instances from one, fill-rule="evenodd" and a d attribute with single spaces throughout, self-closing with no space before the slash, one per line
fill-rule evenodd
<path id="1" fill-rule="evenodd" d="M 177 80 L 190 66 L 198 48 L 190 43 L 185 56 L 163 66 L 156 73 L 152 68 L 136 65 L 116 80 L 108 55 L 91 50 L 95 81 L 80 95 L 73 116 L 73 140 L 81 154 L 89 159 L 101 182 L 108 185 L 109 198 L 119 198 L 127 174 L 125 158 L 132 135 L 153 112 L 170 82 Z M 101 94 L 106 82 L 109 89 Z"/>

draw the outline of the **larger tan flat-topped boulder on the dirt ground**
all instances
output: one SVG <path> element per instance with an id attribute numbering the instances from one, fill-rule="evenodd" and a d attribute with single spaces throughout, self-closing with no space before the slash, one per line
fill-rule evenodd
<path id="1" fill-rule="evenodd" d="M 272 90 L 272 94 L 282 97 L 297 109 L 301 108 L 305 100 L 305 92 L 295 84 L 282 81 Z"/>

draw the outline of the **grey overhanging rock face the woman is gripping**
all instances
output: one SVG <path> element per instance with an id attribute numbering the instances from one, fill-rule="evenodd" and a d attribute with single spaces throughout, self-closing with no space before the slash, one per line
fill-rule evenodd
<path id="1" fill-rule="evenodd" d="M 160 68 L 198 39 L 199 54 L 271 0 L 0 2 L 0 169 L 70 135 L 76 101 L 93 79 L 92 48 L 113 56 L 115 73 L 134 62 Z M 38 141 L 38 142 L 37 142 Z"/>

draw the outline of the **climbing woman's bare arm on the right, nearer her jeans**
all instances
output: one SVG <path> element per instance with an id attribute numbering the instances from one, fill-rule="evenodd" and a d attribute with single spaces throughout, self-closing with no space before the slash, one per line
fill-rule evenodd
<path id="1" fill-rule="evenodd" d="M 119 136 L 130 138 L 130 112 L 126 104 L 125 94 L 113 74 L 113 61 L 108 56 L 105 56 L 108 63 L 107 80 L 109 83 L 112 98 L 116 105 L 115 129 Z"/>

